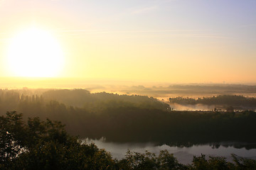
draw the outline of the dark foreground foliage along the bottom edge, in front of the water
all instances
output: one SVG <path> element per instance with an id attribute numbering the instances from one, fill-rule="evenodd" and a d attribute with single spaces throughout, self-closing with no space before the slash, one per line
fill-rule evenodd
<path id="1" fill-rule="evenodd" d="M 159 155 L 128 151 L 125 158 L 113 159 L 104 149 L 82 143 L 68 135 L 60 122 L 29 118 L 7 112 L 0 117 L 0 169 L 106 169 L 106 170 L 214 170 L 256 169 L 256 160 L 232 155 L 233 163 L 224 157 L 193 157 L 192 164 L 180 164 L 173 154 L 163 150 Z"/>

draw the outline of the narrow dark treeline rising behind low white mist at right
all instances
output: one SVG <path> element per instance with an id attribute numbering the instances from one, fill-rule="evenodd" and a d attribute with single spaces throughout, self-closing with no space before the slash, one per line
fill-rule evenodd
<path id="1" fill-rule="evenodd" d="M 256 108 L 256 98 L 236 96 L 236 95 L 220 95 L 208 98 L 183 98 L 175 97 L 169 98 L 171 103 L 179 103 L 182 105 L 218 105 L 218 106 L 247 106 Z"/>

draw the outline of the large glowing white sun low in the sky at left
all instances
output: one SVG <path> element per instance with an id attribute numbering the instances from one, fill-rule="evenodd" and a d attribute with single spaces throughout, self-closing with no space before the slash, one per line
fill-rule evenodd
<path id="1" fill-rule="evenodd" d="M 18 77 L 56 77 L 63 67 L 63 51 L 45 30 L 31 28 L 11 38 L 7 62 Z"/>

